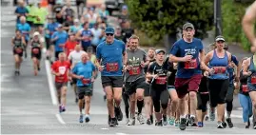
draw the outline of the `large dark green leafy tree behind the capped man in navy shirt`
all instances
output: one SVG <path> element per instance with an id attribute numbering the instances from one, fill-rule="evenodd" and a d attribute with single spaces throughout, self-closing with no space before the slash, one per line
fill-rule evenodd
<path id="1" fill-rule="evenodd" d="M 212 0 L 128 0 L 127 4 L 135 28 L 155 42 L 165 35 L 176 40 L 177 29 L 187 22 L 194 25 L 200 38 L 206 37 L 213 25 Z"/>

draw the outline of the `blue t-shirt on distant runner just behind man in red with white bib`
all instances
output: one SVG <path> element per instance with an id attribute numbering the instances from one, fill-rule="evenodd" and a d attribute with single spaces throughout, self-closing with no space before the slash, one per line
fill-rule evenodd
<path id="1" fill-rule="evenodd" d="M 54 39 L 55 37 L 58 37 L 58 39 L 54 42 L 55 46 L 55 51 L 63 51 L 63 48 L 60 47 L 61 44 L 65 44 L 69 38 L 68 33 L 63 30 L 63 31 L 55 31 L 51 35 L 51 39 Z"/>

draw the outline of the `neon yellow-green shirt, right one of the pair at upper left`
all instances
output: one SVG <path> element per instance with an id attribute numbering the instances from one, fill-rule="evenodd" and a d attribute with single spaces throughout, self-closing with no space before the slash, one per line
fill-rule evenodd
<path id="1" fill-rule="evenodd" d="M 34 24 L 45 24 L 46 23 L 46 18 L 48 15 L 48 10 L 45 8 L 37 8 L 35 10 L 35 15 L 40 19 L 38 20 L 37 17 L 34 19 Z"/>

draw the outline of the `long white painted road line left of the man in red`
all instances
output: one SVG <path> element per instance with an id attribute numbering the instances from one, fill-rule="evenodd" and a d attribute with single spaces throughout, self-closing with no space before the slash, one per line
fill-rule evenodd
<path id="1" fill-rule="evenodd" d="M 55 87 L 53 86 L 52 76 L 50 73 L 49 61 L 45 60 L 45 64 L 46 64 L 46 70 L 47 70 L 47 76 L 48 76 L 49 93 L 51 97 L 51 102 L 53 106 L 57 106 L 57 97 L 55 93 Z"/>

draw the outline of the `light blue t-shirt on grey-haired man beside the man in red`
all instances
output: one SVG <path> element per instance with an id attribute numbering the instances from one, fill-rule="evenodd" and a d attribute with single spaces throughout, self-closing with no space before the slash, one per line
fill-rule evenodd
<path id="1" fill-rule="evenodd" d="M 72 69 L 72 73 L 78 76 L 84 76 L 85 79 L 91 79 L 92 71 L 95 71 L 95 67 L 90 61 L 88 61 L 86 64 L 84 64 L 83 62 L 79 62 Z M 84 85 L 82 83 L 82 80 L 77 79 L 76 86 L 78 87 L 91 86 L 91 83 L 89 83 L 88 85 Z"/>

